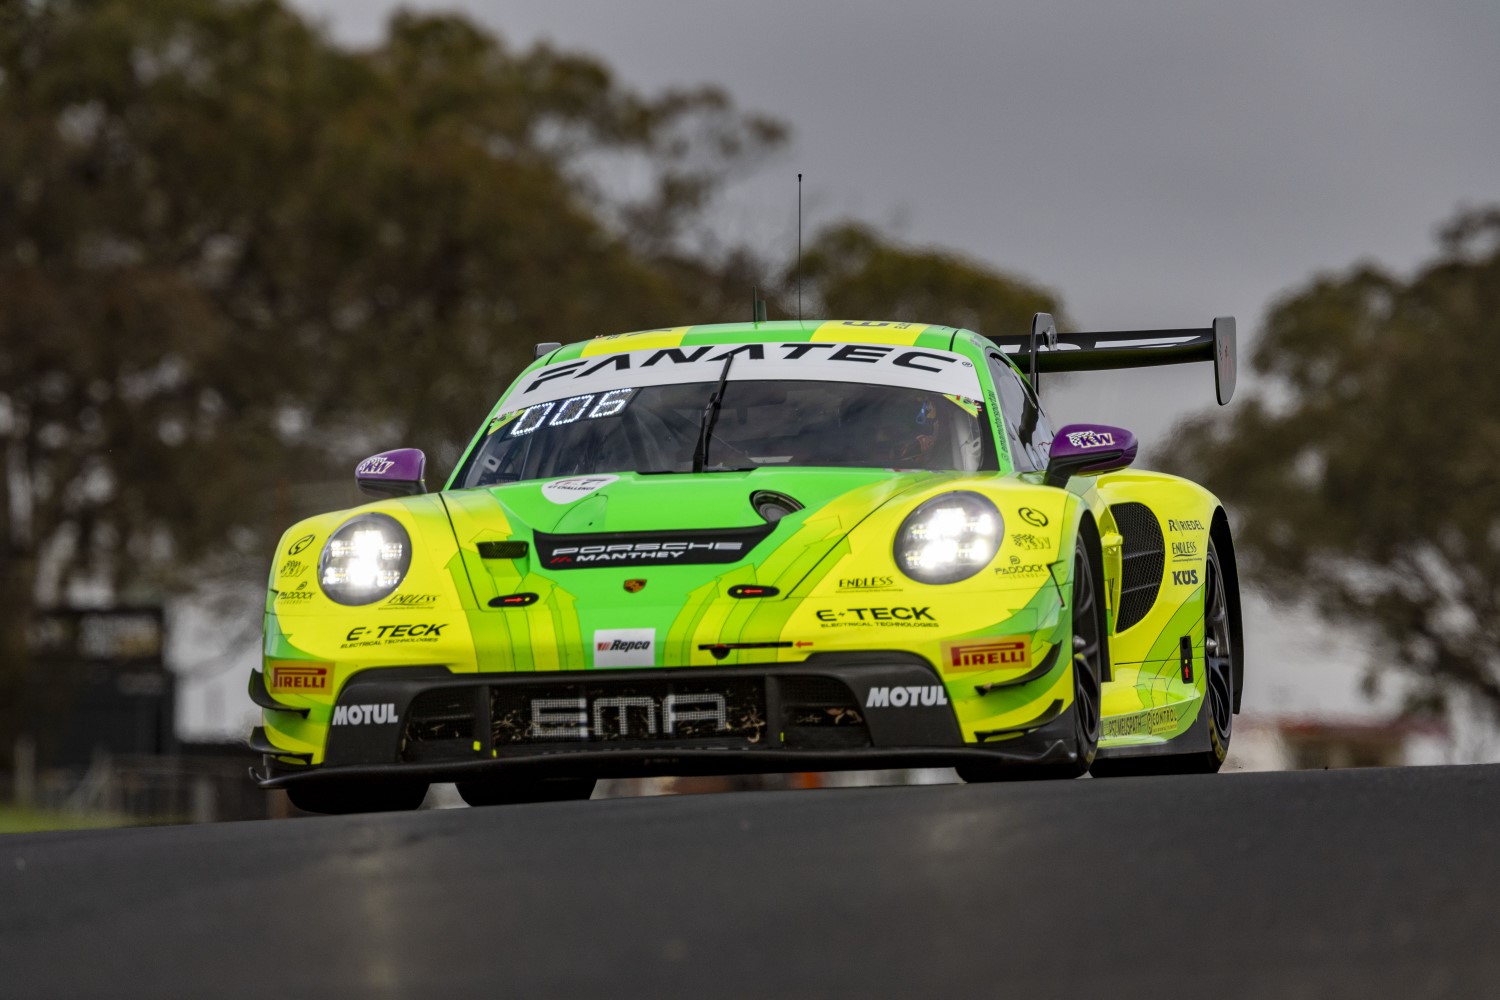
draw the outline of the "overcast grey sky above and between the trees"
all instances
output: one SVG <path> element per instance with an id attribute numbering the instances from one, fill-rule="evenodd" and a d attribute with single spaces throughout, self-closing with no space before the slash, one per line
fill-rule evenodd
<path id="1" fill-rule="evenodd" d="M 370 43 L 400 4 L 297 6 Z M 723 84 L 788 121 L 786 154 L 722 208 L 726 235 L 789 250 L 802 171 L 810 225 L 852 214 L 958 249 L 1048 285 L 1095 330 L 1234 315 L 1250 337 L 1312 271 L 1410 268 L 1460 204 L 1500 199 L 1496 0 L 405 6 L 592 52 L 646 91 Z M 1050 403 L 1131 426 L 1149 453 L 1212 397 L 1208 366 L 1184 366 L 1078 376 Z M 1278 633 L 1257 658 L 1306 657 L 1317 633 Z"/>

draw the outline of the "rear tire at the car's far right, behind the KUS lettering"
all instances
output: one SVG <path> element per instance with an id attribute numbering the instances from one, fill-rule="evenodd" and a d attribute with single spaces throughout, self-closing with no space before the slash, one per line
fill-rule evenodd
<path id="1" fill-rule="evenodd" d="M 1094 777 L 1122 778 L 1149 774 L 1215 774 L 1228 756 L 1228 741 L 1234 735 L 1234 654 L 1238 624 L 1230 619 L 1233 603 L 1228 577 L 1218 547 L 1209 538 L 1209 556 L 1203 579 L 1203 672 L 1208 697 L 1198 709 L 1208 712 L 1209 748 L 1188 754 L 1154 757 L 1104 757 L 1094 762 Z"/>

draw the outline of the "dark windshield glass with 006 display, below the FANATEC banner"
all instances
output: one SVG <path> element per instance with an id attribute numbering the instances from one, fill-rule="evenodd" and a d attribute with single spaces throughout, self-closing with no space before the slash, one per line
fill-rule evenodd
<path id="1" fill-rule="evenodd" d="M 600 472 L 690 472 L 717 382 L 582 393 L 502 414 L 459 486 Z M 866 466 L 975 471 L 984 460 L 980 403 L 862 382 L 730 379 L 704 454 L 705 471 Z"/>

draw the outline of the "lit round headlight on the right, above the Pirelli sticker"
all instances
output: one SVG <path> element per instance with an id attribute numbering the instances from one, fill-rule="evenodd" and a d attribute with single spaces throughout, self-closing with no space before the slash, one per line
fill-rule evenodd
<path id="1" fill-rule="evenodd" d="M 978 493 L 944 493 L 902 522 L 896 565 L 921 583 L 956 583 L 988 565 L 1004 537 L 994 504 Z"/>

